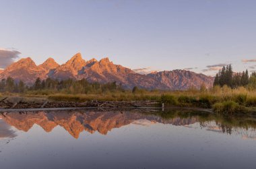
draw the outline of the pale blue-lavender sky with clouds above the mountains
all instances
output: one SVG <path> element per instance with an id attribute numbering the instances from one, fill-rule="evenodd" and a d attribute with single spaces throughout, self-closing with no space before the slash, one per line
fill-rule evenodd
<path id="1" fill-rule="evenodd" d="M 0 0 L 0 68 L 109 57 L 141 73 L 256 71 L 256 1 Z"/>

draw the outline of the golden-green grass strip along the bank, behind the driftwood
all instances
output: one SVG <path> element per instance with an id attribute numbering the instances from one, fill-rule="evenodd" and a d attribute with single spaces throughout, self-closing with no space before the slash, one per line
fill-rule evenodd
<path id="1" fill-rule="evenodd" d="M 17 96 L 19 94 L 0 94 L 0 96 Z M 97 94 L 67 94 L 63 91 L 55 92 L 49 90 L 30 91 L 22 96 L 44 97 L 53 101 L 84 102 L 88 100 L 99 101 L 132 101 L 132 100 L 155 100 L 164 102 L 165 106 L 213 108 L 215 112 L 238 113 L 255 112 L 256 90 L 246 88 L 230 89 L 215 87 L 207 91 L 186 90 L 186 91 L 146 91 L 139 93 L 131 91 L 105 92 Z"/>

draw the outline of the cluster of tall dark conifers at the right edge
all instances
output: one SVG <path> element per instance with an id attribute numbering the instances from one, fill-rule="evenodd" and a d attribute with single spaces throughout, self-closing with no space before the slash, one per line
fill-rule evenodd
<path id="1" fill-rule="evenodd" d="M 218 71 L 214 79 L 214 86 L 228 86 L 238 88 L 240 86 L 256 88 L 256 73 L 249 77 L 248 70 L 241 73 L 234 73 L 231 65 L 226 65 Z"/>

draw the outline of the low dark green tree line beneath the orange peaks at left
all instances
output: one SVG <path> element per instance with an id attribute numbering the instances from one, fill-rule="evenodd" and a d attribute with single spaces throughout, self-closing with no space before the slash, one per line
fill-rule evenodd
<path id="1" fill-rule="evenodd" d="M 113 83 L 90 83 L 86 79 L 43 79 L 39 77 L 34 81 L 32 86 L 26 86 L 25 83 L 14 81 L 13 78 L 1 79 L 0 92 L 15 92 L 24 93 L 30 91 L 44 91 L 44 92 L 63 92 L 67 94 L 96 94 L 104 92 L 124 91 L 121 84 Z"/>

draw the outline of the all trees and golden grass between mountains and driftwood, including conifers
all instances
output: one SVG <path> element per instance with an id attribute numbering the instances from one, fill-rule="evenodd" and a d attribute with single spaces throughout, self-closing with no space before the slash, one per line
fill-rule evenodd
<path id="1" fill-rule="evenodd" d="M 216 75 L 214 86 L 206 89 L 191 88 L 186 91 L 143 90 L 136 86 L 125 90 L 119 83 L 89 83 L 86 79 L 36 79 L 32 86 L 11 77 L 0 82 L 3 96 L 44 96 L 56 101 L 84 102 L 156 100 L 166 106 L 212 108 L 215 112 L 236 113 L 256 110 L 256 73 L 249 77 L 248 71 L 234 73 L 231 65 L 223 67 Z"/>

